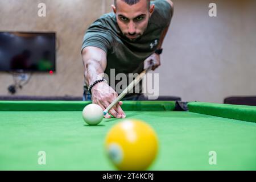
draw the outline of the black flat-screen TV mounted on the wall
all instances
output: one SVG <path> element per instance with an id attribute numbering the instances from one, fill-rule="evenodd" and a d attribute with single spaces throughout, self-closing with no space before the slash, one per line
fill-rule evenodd
<path id="1" fill-rule="evenodd" d="M 55 72 L 54 32 L 0 32 L 0 71 Z"/>

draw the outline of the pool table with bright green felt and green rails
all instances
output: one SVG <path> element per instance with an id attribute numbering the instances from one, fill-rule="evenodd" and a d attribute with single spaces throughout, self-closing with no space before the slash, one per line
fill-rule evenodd
<path id="1" fill-rule="evenodd" d="M 0 101 L 0 170 L 116 170 L 105 136 L 123 119 L 88 126 L 86 101 Z M 151 125 L 159 140 L 149 170 L 256 170 L 256 107 L 124 101 L 127 118 Z M 147 142 L 147 141 L 145 141 Z M 45 164 L 40 163 L 44 152 Z M 134 151 L 137 152 L 137 151 Z"/>

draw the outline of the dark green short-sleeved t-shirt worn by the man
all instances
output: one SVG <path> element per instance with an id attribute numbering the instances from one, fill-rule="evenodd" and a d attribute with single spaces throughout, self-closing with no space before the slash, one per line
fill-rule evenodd
<path id="1" fill-rule="evenodd" d="M 110 80 L 114 79 L 110 75 L 110 69 L 115 69 L 115 76 L 118 73 L 125 73 L 127 80 L 129 80 L 129 73 L 143 71 L 143 61 L 154 53 L 164 28 L 170 23 L 173 14 L 170 4 L 165 0 L 156 0 L 151 3 L 154 3 L 155 10 L 146 31 L 136 42 L 131 42 L 122 35 L 114 13 L 101 16 L 85 32 L 82 49 L 94 46 L 107 53 L 105 73 L 109 77 L 109 85 Z M 117 82 L 119 80 L 115 81 L 115 84 Z"/>

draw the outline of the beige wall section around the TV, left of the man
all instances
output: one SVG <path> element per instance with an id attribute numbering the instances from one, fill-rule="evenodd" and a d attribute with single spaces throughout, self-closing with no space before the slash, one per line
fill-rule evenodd
<path id="1" fill-rule="evenodd" d="M 39 3 L 46 3 L 46 17 L 38 16 Z M 1 0 L 0 31 L 54 31 L 57 35 L 56 74 L 34 73 L 16 95 L 82 96 L 82 38 L 101 14 L 101 0 Z M 0 95 L 9 95 L 11 84 L 11 75 L 1 72 Z"/>

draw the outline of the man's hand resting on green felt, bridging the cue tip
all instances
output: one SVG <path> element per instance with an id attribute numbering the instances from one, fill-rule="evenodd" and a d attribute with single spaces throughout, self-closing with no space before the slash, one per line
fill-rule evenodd
<path id="1" fill-rule="evenodd" d="M 106 82 L 99 82 L 92 88 L 92 102 L 100 105 L 102 110 L 105 110 L 117 97 L 118 94 Z M 115 118 L 125 118 L 126 115 L 121 108 L 122 104 L 122 101 L 118 102 L 117 105 L 109 110 L 109 113 Z M 111 118 L 109 114 L 106 114 L 104 117 Z"/>

